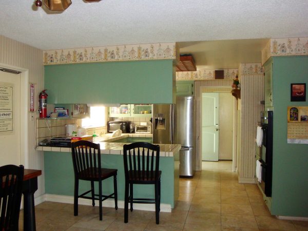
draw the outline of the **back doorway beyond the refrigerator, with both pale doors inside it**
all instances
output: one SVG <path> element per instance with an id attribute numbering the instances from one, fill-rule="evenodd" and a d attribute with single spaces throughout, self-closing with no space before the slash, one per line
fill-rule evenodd
<path id="1" fill-rule="evenodd" d="M 232 160 L 236 170 L 237 101 L 230 87 L 200 89 L 202 161 Z"/>

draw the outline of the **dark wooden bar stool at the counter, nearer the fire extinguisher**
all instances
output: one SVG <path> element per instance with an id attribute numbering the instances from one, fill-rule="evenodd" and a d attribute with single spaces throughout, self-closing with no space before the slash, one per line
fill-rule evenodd
<path id="1" fill-rule="evenodd" d="M 102 168 L 100 144 L 94 144 L 90 141 L 78 141 L 71 144 L 72 159 L 75 175 L 74 187 L 74 216 L 78 216 L 78 198 L 91 199 L 92 205 L 95 200 L 99 200 L 100 220 L 103 218 L 102 202 L 108 198 L 114 198 L 114 207 L 118 209 L 117 192 L 117 169 Z M 102 181 L 113 177 L 113 194 L 102 195 Z M 91 182 L 91 189 L 79 195 L 79 180 Z M 99 182 L 99 194 L 94 192 L 94 181 Z M 86 196 L 91 192 L 91 197 Z M 96 197 L 95 197 L 96 196 Z"/>

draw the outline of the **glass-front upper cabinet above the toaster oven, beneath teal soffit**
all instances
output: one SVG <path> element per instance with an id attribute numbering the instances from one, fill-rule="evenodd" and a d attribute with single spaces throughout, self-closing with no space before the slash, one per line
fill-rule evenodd
<path id="1" fill-rule="evenodd" d="M 151 117 L 151 104 L 121 104 L 120 107 L 109 107 L 109 117 Z"/>

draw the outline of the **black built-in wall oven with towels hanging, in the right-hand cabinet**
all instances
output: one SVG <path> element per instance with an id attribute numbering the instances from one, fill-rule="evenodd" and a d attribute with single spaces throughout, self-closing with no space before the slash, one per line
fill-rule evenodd
<path id="1" fill-rule="evenodd" d="M 263 132 L 261 162 L 261 188 L 266 197 L 272 196 L 273 178 L 273 111 L 261 112 L 261 127 Z"/>

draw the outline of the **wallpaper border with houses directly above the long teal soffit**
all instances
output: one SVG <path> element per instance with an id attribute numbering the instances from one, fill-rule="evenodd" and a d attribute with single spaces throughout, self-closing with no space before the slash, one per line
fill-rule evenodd
<path id="1" fill-rule="evenodd" d="M 132 44 L 45 50 L 44 65 L 176 59 L 176 43 Z"/>

